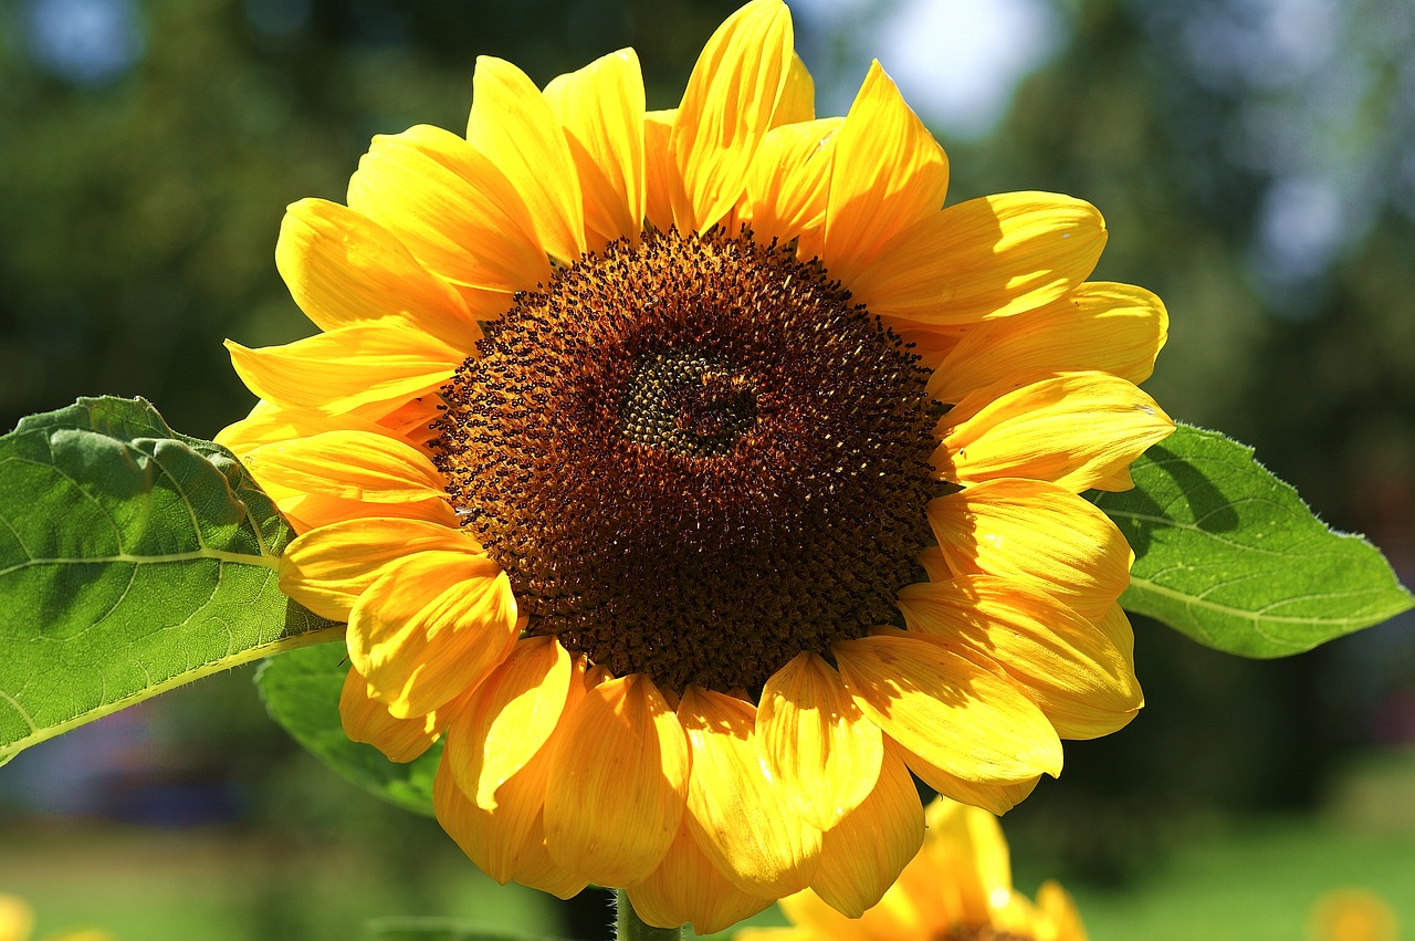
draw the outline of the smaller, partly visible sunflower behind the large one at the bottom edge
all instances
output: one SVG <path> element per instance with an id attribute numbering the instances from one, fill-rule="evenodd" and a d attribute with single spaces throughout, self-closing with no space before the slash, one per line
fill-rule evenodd
<path id="1" fill-rule="evenodd" d="M 1071 896 L 1056 882 L 1033 904 L 1012 887 L 998 818 L 945 797 L 928 807 L 918 856 L 857 921 L 807 890 L 781 900 L 792 928 L 744 928 L 733 941 L 1085 941 Z"/>

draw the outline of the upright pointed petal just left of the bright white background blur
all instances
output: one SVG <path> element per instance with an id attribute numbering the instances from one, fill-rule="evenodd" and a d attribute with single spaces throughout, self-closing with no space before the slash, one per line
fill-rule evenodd
<path id="1" fill-rule="evenodd" d="M 879 313 L 859 296 L 856 279 L 886 242 L 938 215 L 948 192 L 948 158 L 879 62 L 870 65 L 835 133 L 831 158 L 822 259 L 832 277 Z"/>

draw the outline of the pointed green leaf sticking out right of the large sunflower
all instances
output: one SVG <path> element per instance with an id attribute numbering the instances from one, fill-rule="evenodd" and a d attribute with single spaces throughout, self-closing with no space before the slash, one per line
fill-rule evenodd
<path id="1" fill-rule="evenodd" d="M 1329 529 L 1251 447 L 1180 425 L 1131 473 L 1135 490 L 1091 494 L 1135 549 L 1129 611 L 1230 654 L 1283 657 L 1415 606 L 1375 546 Z"/>

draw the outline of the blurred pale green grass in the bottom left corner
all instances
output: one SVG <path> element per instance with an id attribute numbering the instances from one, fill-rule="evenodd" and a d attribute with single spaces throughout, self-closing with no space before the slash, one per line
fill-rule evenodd
<path id="1" fill-rule="evenodd" d="M 422 904 L 453 918 L 558 933 L 539 893 L 498 886 L 450 841 L 446 849 L 419 865 Z M 375 918 L 429 914 L 409 910 L 408 893 L 385 870 L 386 860 L 366 850 L 291 852 L 279 836 L 225 828 L 50 825 L 0 839 L 0 891 L 34 906 L 37 937 L 100 927 L 117 941 L 352 941 Z"/>

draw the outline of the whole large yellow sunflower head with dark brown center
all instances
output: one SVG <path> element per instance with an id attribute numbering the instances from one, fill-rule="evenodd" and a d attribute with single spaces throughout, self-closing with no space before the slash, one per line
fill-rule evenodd
<path id="1" fill-rule="evenodd" d="M 676 109 L 631 50 L 538 89 L 480 58 L 466 137 L 375 137 L 276 262 L 321 333 L 228 344 L 218 440 L 348 621 L 344 727 L 443 736 L 437 815 L 498 880 L 722 928 L 859 914 L 923 838 L 910 773 L 1003 811 L 1140 706 L 1131 550 L 1087 500 L 1173 427 L 1166 316 L 1105 228 L 948 163 L 876 62 L 815 117 L 778 0 Z"/>

